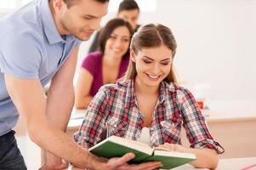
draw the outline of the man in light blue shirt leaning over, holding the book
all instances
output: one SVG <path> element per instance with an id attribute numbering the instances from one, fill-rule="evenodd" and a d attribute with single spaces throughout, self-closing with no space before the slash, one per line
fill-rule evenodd
<path id="1" fill-rule="evenodd" d="M 61 158 L 90 169 L 161 166 L 129 166 L 133 154 L 101 161 L 65 134 L 74 103 L 78 47 L 100 28 L 107 7 L 108 0 L 35 0 L 1 18 L 0 169 L 26 169 L 12 131 L 19 116 L 30 138 L 48 150 L 42 169 L 66 167 Z M 43 86 L 50 81 L 46 97 Z"/>

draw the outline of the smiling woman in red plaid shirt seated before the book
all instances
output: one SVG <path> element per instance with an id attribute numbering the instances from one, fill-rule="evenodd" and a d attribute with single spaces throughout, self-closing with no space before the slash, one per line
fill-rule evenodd
<path id="1" fill-rule="evenodd" d="M 208 131 L 204 116 L 191 92 L 177 84 L 173 59 L 176 40 L 163 25 L 139 28 L 130 45 L 130 61 L 123 81 L 100 88 L 85 111 L 74 139 L 85 148 L 100 140 L 103 127 L 115 135 L 194 153 L 195 167 L 216 168 L 218 154 L 224 152 Z M 191 145 L 181 144 L 185 127 Z M 141 140 L 142 132 L 147 138 Z"/>

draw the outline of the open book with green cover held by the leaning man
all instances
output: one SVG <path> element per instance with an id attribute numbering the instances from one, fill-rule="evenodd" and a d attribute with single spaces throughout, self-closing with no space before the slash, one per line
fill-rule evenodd
<path id="1" fill-rule="evenodd" d="M 196 155 L 191 153 L 181 153 L 165 148 L 151 148 L 147 144 L 111 136 L 99 144 L 89 149 L 96 156 L 105 158 L 121 157 L 128 152 L 133 152 L 136 156 L 129 163 L 141 163 L 144 161 L 162 161 L 162 169 L 178 167 L 185 163 L 196 160 Z"/>

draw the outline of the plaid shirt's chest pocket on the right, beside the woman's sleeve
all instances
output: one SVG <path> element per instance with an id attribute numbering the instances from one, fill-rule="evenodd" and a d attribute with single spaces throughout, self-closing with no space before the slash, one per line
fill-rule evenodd
<path id="1" fill-rule="evenodd" d="M 179 122 L 172 120 L 164 120 L 160 122 L 162 127 L 162 137 L 165 142 L 179 143 L 180 140 L 180 126 Z"/>

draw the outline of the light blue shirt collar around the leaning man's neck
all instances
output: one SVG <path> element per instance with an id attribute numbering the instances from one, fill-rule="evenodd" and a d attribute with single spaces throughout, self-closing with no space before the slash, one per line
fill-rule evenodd
<path id="1" fill-rule="evenodd" d="M 54 44 L 58 42 L 66 43 L 66 42 L 71 42 L 75 39 L 75 37 L 72 35 L 67 35 L 65 39 L 63 39 L 60 36 L 60 33 L 55 26 L 54 18 L 50 11 L 48 0 L 41 1 L 39 10 L 41 12 L 43 30 L 50 44 Z"/>

